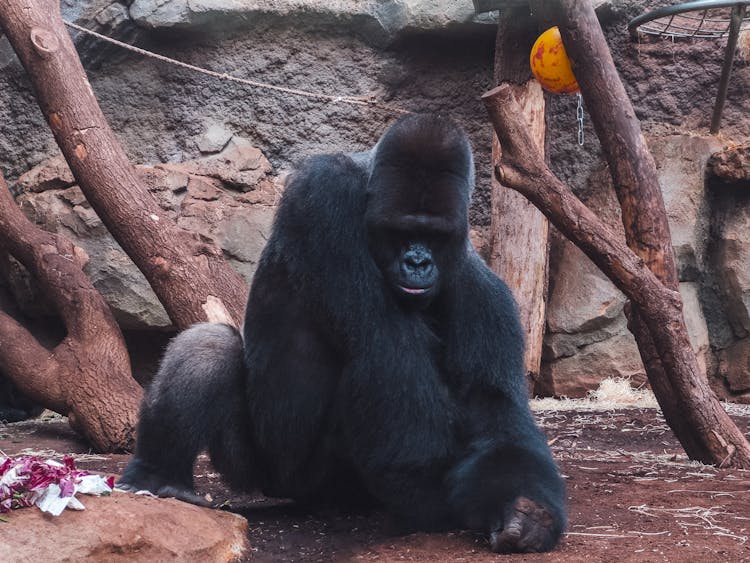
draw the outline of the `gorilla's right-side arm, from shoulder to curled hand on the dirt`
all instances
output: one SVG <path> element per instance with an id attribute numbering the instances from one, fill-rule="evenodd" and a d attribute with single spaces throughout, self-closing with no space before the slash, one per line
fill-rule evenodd
<path id="1" fill-rule="evenodd" d="M 452 502 L 493 550 L 546 551 L 565 527 L 565 488 L 528 408 L 515 302 L 473 250 L 446 289 L 448 371 L 469 438 Z"/>

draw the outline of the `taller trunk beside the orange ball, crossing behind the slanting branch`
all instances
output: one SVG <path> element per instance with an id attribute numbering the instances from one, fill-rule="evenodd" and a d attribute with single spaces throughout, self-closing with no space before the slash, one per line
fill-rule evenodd
<path id="1" fill-rule="evenodd" d="M 643 138 L 640 123 L 617 73 L 594 9 L 590 2 L 579 0 L 536 4 L 541 17 L 554 21 L 560 27 L 573 72 L 614 180 L 628 246 L 666 287 L 678 291 L 672 237 L 656 164 Z M 682 370 L 667 372 L 670 369 L 665 365 L 670 362 L 669 346 L 666 349 L 660 347 L 658 335 L 649 334 L 645 326 L 648 323 L 640 318 L 644 306 L 644 303 L 636 302 L 626 311 L 629 313 L 629 328 L 638 342 L 652 389 L 665 418 L 671 421 L 670 425 L 688 455 L 693 459 L 705 459 L 706 452 L 698 443 L 696 434 L 707 434 L 712 427 L 705 426 L 706 421 L 696 417 L 695 424 L 704 426 L 691 429 L 685 424 L 684 411 L 686 408 L 708 410 L 712 400 L 716 403 L 715 408 L 721 407 L 709 388 L 705 374 L 698 369 L 689 340 L 687 346 L 691 354 L 685 360 L 690 365 L 685 365 Z M 675 321 L 681 324 L 679 334 L 686 335 L 681 312 Z M 659 330 L 663 332 L 664 328 Z M 695 381 L 693 377 L 696 377 Z"/>

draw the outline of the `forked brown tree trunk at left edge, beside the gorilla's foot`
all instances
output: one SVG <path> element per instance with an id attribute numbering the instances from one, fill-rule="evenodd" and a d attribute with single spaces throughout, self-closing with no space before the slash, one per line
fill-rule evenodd
<path id="1" fill-rule="evenodd" d="M 53 350 L 0 310 L 0 368 L 36 402 L 67 415 L 98 451 L 130 449 L 141 387 L 109 307 L 82 271 L 86 253 L 21 213 L 0 176 L 0 246 L 21 262 L 60 314 Z"/>

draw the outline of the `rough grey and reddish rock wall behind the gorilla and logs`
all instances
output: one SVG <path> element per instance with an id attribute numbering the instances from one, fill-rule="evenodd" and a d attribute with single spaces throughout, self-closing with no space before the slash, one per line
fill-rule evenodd
<path id="1" fill-rule="evenodd" d="M 744 400 L 750 392 L 750 150 L 742 143 L 750 139 L 750 64 L 738 56 L 721 134 L 708 135 L 724 41 L 632 39 L 627 22 L 660 4 L 595 2 L 659 167 L 691 338 L 715 388 Z M 85 27 L 231 76 L 374 95 L 401 108 L 451 115 L 476 151 L 471 221 L 475 240 L 482 240 L 492 131 L 478 98 L 492 86 L 497 13 L 477 16 L 469 0 L 63 0 L 62 8 Z M 152 191 L 182 225 L 217 242 L 247 278 L 280 178 L 310 154 L 371 146 L 396 117 L 217 80 L 73 35 L 105 115 L 132 160 L 143 165 Z M 57 148 L 3 38 L 0 68 L 0 168 L 19 203 L 87 250 L 87 271 L 129 341 L 148 340 L 144 331 L 168 331 L 145 280 L 101 227 L 66 167 L 48 160 Z M 553 169 L 619 225 L 590 121 L 581 147 L 575 97 L 547 102 Z M 27 312 L 44 308 L 18 268 L 10 277 Z M 554 236 L 538 392 L 579 396 L 611 376 L 643 382 L 623 305 L 606 278 Z M 146 371 L 153 365 L 134 363 Z"/>

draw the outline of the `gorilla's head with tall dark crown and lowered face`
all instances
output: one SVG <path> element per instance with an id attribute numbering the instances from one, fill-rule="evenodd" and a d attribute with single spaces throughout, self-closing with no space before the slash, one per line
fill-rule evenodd
<path id="1" fill-rule="evenodd" d="M 399 120 L 374 149 L 365 223 L 370 252 L 402 302 L 422 308 L 464 249 L 474 183 L 469 141 L 438 117 Z"/>

